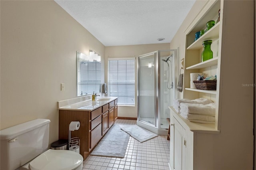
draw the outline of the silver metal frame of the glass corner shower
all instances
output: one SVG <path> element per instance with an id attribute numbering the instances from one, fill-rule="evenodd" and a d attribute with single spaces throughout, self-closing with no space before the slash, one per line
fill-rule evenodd
<path id="1" fill-rule="evenodd" d="M 138 118 L 138 120 L 137 121 L 139 121 L 139 122 L 142 122 L 142 123 L 144 123 L 144 124 L 146 124 L 146 125 L 148 125 L 148 126 L 150 126 L 150 127 L 154 127 L 154 128 L 157 128 L 158 130 L 161 130 L 161 127 L 159 126 L 160 124 L 161 124 L 161 117 L 159 116 L 161 113 L 160 113 L 160 103 L 159 103 L 159 100 L 160 100 L 160 91 L 161 91 L 161 89 L 160 89 L 160 65 L 158 64 L 158 63 L 160 63 L 160 59 L 161 59 L 161 56 L 160 56 L 160 53 L 161 52 L 165 52 L 165 51 L 170 51 L 170 52 L 173 52 L 174 53 L 174 57 L 176 58 L 174 58 L 174 69 L 172 70 L 172 71 L 174 71 L 174 79 L 177 79 L 176 78 L 176 71 L 178 71 L 178 69 L 179 69 L 179 64 L 178 64 L 178 59 L 177 59 L 177 51 L 178 51 L 178 49 L 167 49 L 167 50 L 158 50 L 158 51 L 153 51 L 153 52 L 150 52 L 150 53 L 146 53 L 146 54 L 143 54 L 143 55 L 139 55 L 138 56 L 138 61 L 137 61 L 137 118 Z M 139 97 L 140 97 L 140 91 L 139 91 L 139 87 L 140 87 L 140 81 L 139 81 L 139 78 L 140 78 L 140 67 L 139 67 L 139 58 L 140 57 L 147 57 L 147 56 L 149 56 L 149 55 L 152 55 L 152 54 L 155 54 L 155 57 L 154 57 L 154 61 L 155 61 L 155 68 L 154 68 L 154 75 L 155 75 L 155 81 L 154 81 L 154 83 L 155 83 L 155 92 L 154 92 L 154 94 L 155 94 L 155 96 L 154 96 L 154 98 L 155 98 L 155 125 L 152 125 L 152 124 L 150 124 L 150 123 L 148 123 L 148 122 L 146 122 L 146 121 L 142 121 L 142 120 L 140 120 L 140 113 L 139 113 L 139 109 L 140 109 L 140 99 L 139 99 Z M 176 73 L 175 73 L 176 72 Z M 174 80 L 174 89 L 176 89 L 176 87 L 177 87 L 177 81 L 176 80 Z M 177 92 L 176 92 L 176 90 L 174 90 L 174 96 L 175 97 L 177 97 Z M 160 119 L 159 119 L 159 117 L 160 117 Z"/>

